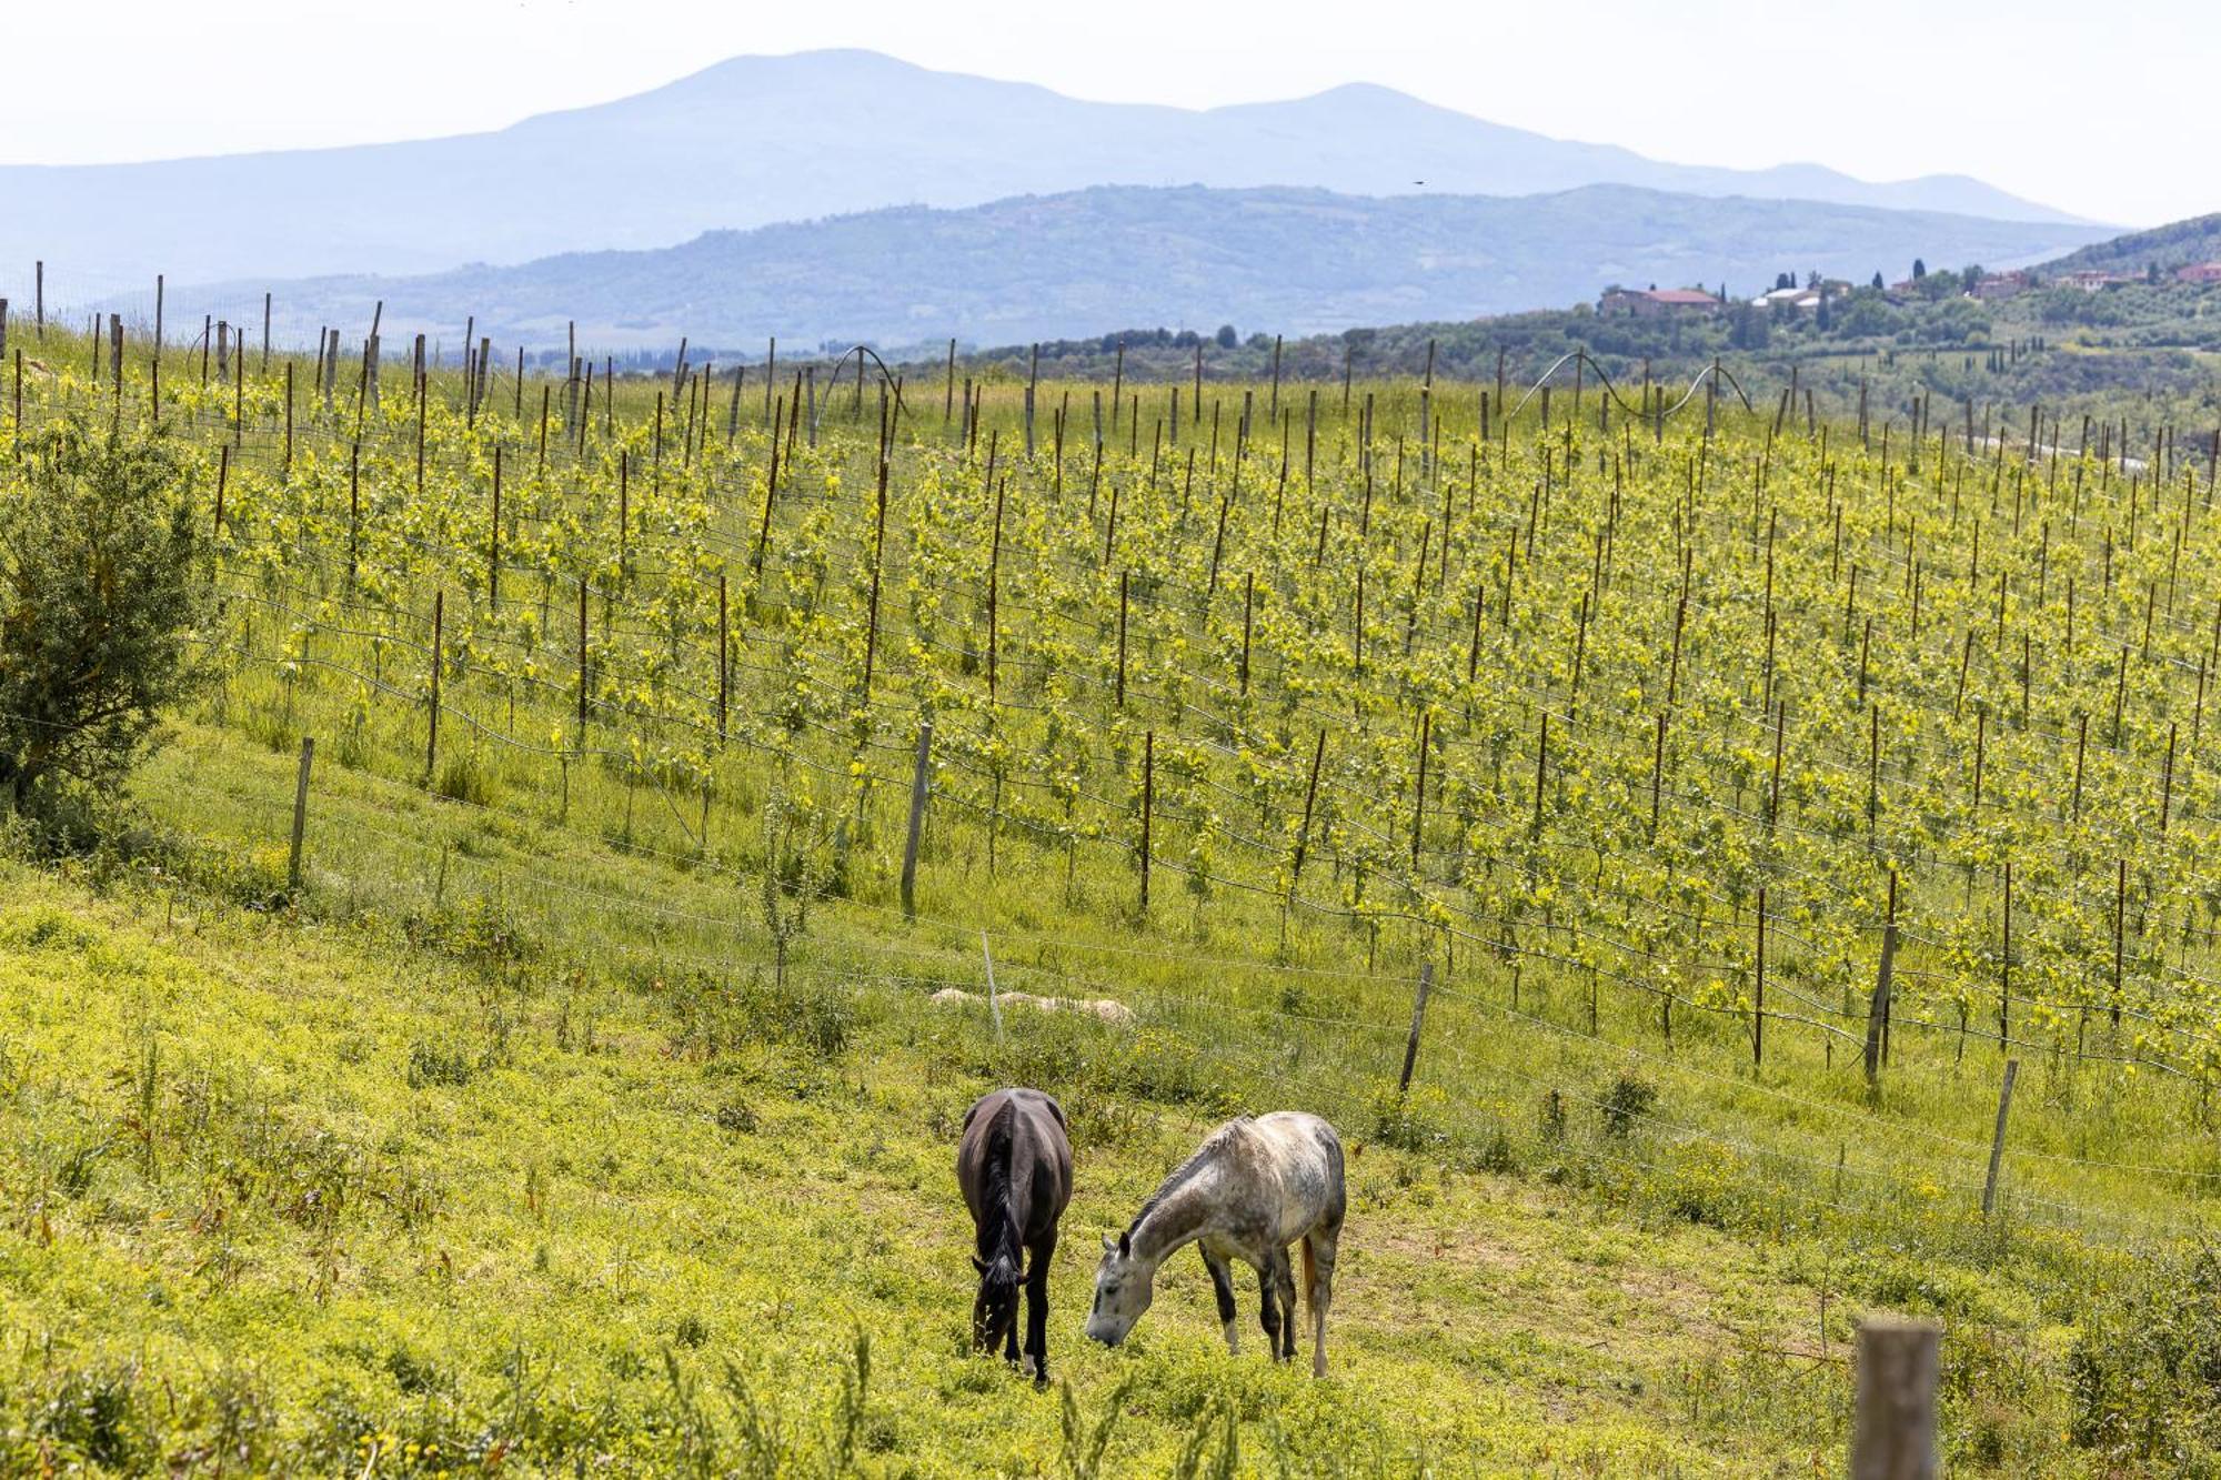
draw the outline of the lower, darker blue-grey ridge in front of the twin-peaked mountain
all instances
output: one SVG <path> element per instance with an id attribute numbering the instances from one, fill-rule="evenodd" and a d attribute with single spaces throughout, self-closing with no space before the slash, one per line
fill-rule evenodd
<path id="1" fill-rule="evenodd" d="M 1115 324 L 1319 333 L 1588 302 L 1612 282 L 1757 293 L 1779 271 L 1868 280 L 1937 264 L 2012 267 L 2101 227 L 1881 211 L 1592 184 L 1528 198 L 1361 198 L 1319 189 L 1097 187 L 964 211 L 900 207 L 711 231 L 655 251 L 591 251 L 418 278 L 275 284 L 278 336 L 322 324 L 449 347 L 464 316 L 502 344 L 597 351 L 695 344 L 884 347 L 1091 336 Z M 171 322 L 258 322 L 260 282 L 180 289 Z"/>

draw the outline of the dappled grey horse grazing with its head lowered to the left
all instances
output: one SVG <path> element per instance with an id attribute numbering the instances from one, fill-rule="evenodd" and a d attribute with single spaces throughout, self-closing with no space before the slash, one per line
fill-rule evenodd
<path id="1" fill-rule="evenodd" d="M 1295 1358 L 1295 1273 L 1288 1244 L 1304 1240 L 1310 1304 L 1310 1371 L 1326 1376 L 1326 1304 L 1341 1238 L 1341 1140 L 1317 1116 L 1275 1111 L 1228 1120 L 1168 1176 L 1115 1240 L 1104 1236 L 1088 1336 L 1117 1347 L 1155 1296 L 1157 1269 L 1182 1247 L 1202 1244 L 1219 1296 L 1226 1349 L 1235 1351 L 1235 1287 L 1228 1260 L 1257 1271 L 1266 1353 Z"/>

